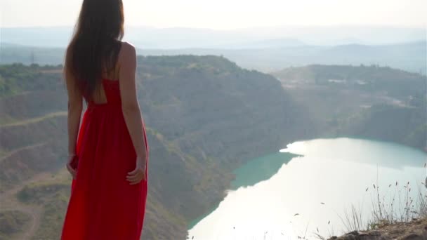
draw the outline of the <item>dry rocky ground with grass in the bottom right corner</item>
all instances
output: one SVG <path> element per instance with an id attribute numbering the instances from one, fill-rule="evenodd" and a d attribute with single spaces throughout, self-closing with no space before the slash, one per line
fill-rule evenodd
<path id="1" fill-rule="evenodd" d="M 386 225 L 365 232 L 349 232 L 343 236 L 332 236 L 329 240 L 426 240 L 427 218 L 412 222 Z"/>

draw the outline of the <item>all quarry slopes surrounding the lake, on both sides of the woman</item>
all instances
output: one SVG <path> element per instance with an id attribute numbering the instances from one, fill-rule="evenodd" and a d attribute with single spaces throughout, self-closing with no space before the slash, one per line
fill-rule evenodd
<path id="1" fill-rule="evenodd" d="M 0 239 L 58 239 L 71 181 L 61 69 L 0 66 Z M 234 168 L 294 140 L 353 135 L 426 150 L 425 76 L 338 65 L 273 75 L 211 55 L 138 57 L 152 159 L 143 238 L 184 239 Z"/>

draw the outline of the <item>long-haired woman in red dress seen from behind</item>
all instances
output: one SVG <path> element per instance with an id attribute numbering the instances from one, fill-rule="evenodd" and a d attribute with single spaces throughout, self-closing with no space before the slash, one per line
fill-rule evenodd
<path id="1" fill-rule="evenodd" d="M 140 239 L 148 145 L 121 0 L 84 0 L 67 48 L 70 202 L 61 239 Z M 83 99 L 87 109 L 81 122 Z"/>

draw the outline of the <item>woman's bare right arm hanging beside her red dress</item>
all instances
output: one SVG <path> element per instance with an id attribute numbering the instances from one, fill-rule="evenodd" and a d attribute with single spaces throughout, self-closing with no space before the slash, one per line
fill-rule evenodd
<path id="1" fill-rule="evenodd" d="M 136 169 L 130 172 L 127 178 L 131 184 L 136 184 L 140 180 L 146 179 L 147 151 L 136 92 L 136 50 L 126 42 L 121 45 L 119 54 L 119 86 L 124 120 L 137 154 Z"/>

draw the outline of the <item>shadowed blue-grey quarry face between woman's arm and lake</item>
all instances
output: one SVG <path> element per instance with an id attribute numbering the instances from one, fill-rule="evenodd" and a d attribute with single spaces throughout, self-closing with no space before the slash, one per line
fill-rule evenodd
<path id="1" fill-rule="evenodd" d="M 270 75 L 216 56 L 140 57 L 138 62 L 147 125 L 199 161 L 215 156 L 238 165 L 315 135 L 306 109 Z"/>

